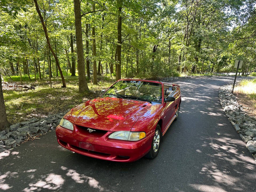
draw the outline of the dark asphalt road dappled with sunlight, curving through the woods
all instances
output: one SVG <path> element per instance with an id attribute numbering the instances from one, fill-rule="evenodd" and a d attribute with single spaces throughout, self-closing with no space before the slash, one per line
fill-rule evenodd
<path id="1" fill-rule="evenodd" d="M 255 191 L 254 159 L 218 99 L 219 87 L 232 80 L 176 81 L 182 87 L 179 119 L 154 160 L 85 157 L 58 146 L 50 132 L 0 154 L 0 191 Z"/>

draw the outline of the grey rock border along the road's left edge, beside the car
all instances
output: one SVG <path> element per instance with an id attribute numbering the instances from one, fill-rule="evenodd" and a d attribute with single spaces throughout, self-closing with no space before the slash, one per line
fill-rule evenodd
<path id="1" fill-rule="evenodd" d="M 49 114 L 44 119 L 32 118 L 29 121 L 16 123 L 11 125 L 9 129 L 0 131 L 0 153 L 25 142 L 28 137 L 42 135 L 49 130 L 55 130 L 66 113 L 53 116 Z"/>

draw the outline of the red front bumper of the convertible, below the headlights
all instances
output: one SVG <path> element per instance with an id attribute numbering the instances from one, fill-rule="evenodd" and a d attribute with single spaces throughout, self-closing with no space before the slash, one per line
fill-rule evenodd
<path id="1" fill-rule="evenodd" d="M 153 139 L 153 135 L 139 141 L 109 139 L 108 136 L 113 131 L 106 131 L 102 136 L 95 137 L 88 131 L 80 131 L 78 126 L 73 126 L 74 131 L 57 126 L 56 135 L 59 145 L 75 153 L 108 161 L 136 161 L 148 153 Z"/>

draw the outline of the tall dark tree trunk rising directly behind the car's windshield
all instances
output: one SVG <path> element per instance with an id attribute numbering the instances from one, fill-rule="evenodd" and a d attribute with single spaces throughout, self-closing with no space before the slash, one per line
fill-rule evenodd
<path id="1" fill-rule="evenodd" d="M 117 67 L 116 81 L 121 79 L 121 46 L 122 46 L 122 0 L 117 0 L 118 21 L 117 21 Z"/>

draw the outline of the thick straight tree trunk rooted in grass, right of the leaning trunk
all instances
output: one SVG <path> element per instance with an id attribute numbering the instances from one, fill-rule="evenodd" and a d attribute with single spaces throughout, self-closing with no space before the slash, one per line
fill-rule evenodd
<path id="1" fill-rule="evenodd" d="M 74 12 L 75 12 L 75 38 L 77 43 L 78 86 L 79 86 L 79 93 L 83 93 L 85 91 L 89 91 L 89 88 L 86 82 L 86 75 L 85 75 L 80 0 L 74 0 Z"/>

